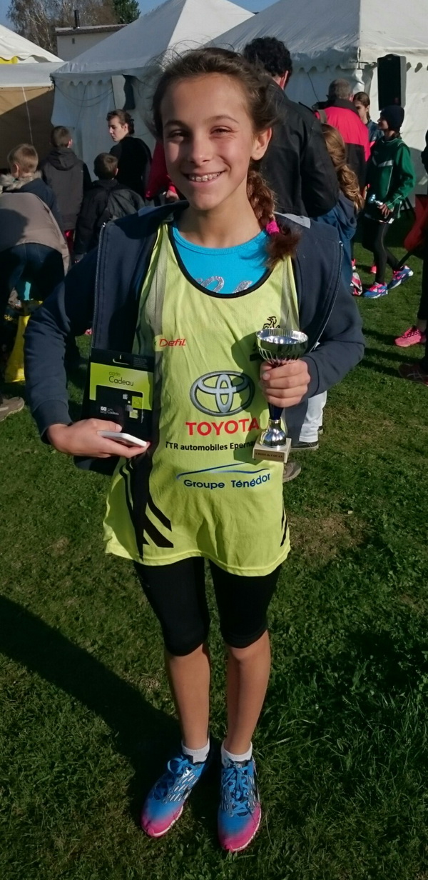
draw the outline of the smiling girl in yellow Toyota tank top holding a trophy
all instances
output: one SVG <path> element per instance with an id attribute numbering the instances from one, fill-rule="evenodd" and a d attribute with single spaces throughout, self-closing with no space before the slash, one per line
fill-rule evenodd
<path id="1" fill-rule="evenodd" d="M 252 445 L 267 420 L 266 401 L 306 400 L 342 378 L 363 351 L 336 231 L 303 227 L 298 240 L 295 228 L 279 226 L 258 175 L 274 119 L 268 88 L 224 49 L 193 50 L 170 64 L 153 117 L 170 178 L 187 201 L 108 224 L 98 254 L 71 271 L 27 339 L 41 434 L 86 457 L 85 466 L 95 460 L 105 470 L 121 456 L 107 549 L 134 560 L 160 621 L 182 734 L 142 810 L 153 837 L 177 821 L 212 759 L 209 561 L 228 652 L 218 822 L 229 850 L 246 847 L 260 823 L 251 738 L 271 662 L 266 612 L 289 549 L 282 466 L 256 463 Z M 91 323 L 94 299 L 94 348 L 154 356 L 146 455 L 99 435 L 120 429 L 113 422 L 70 424 L 62 339 L 66 328 Z M 262 364 L 259 383 L 255 333 L 264 325 L 301 326 L 308 354 L 276 368 Z"/>

